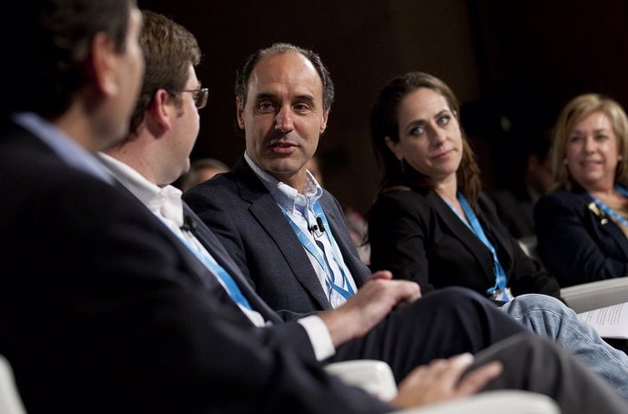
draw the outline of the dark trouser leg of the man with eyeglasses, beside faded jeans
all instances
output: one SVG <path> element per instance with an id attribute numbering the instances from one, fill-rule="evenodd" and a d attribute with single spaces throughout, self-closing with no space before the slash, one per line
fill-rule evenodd
<path id="1" fill-rule="evenodd" d="M 400 380 L 434 358 L 475 354 L 522 332 L 530 330 L 471 289 L 442 288 L 395 309 L 365 337 L 340 346 L 332 360 L 384 360 Z"/>

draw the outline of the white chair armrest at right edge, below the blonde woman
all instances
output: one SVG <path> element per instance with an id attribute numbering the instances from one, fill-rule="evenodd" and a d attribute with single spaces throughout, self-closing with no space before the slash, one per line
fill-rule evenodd
<path id="1" fill-rule="evenodd" d="M 628 302 L 628 277 L 562 288 L 561 296 L 576 313 Z"/>

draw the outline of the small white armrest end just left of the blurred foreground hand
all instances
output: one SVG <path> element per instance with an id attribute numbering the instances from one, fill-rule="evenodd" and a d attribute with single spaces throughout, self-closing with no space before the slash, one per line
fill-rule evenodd
<path id="1" fill-rule="evenodd" d="M 385 401 L 397 395 L 397 383 L 386 362 L 376 359 L 353 359 L 332 362 L 325 366 L 325 370 Z"/>

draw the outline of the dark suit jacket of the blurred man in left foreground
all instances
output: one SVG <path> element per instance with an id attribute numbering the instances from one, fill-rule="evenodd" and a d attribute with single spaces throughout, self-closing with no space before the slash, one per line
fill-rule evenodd
<path id="1" fill-rule="evenodd" d="M 126 189 L 0 136 L 0 352 L 29 413 L 390 411 L 325 375 L 299 324 L 254 327 Z"/>

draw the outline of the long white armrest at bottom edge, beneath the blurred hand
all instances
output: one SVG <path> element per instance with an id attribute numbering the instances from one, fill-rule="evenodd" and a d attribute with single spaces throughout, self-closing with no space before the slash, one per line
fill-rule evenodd
<path id="1" fill-rule="evenodd" d="M 471 397 L 431 404 L 420 409 L 402 409 L 390 414 L 560 414 L 558 404 L 530 391 L 495 390 Z"/>

